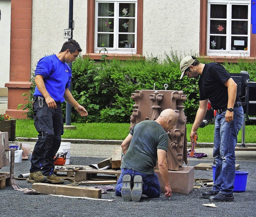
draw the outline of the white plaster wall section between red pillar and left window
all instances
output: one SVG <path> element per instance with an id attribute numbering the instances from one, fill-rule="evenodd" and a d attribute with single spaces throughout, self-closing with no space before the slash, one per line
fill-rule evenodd
<path id="1" fill-rule="evenodd" d="M 33 0 L 32 3 L 32 51 L 31 72 L 36 68 L 40 58 L 57 54 L 64 38 L 64 29 L 68 29 L 69 1 L 68 0 Z M 86 20 L 87 1 L 74 0 L 73 6 L 74 30 L 73 39 L 86 52 Z"/>

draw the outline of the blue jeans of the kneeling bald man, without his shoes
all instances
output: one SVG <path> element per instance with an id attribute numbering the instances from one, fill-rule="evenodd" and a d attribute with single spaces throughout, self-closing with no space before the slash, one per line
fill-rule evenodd
<path id="1" fill-rule="evenodd" d="M 160 197 L 161 187 L 160 187 L 160 183 L 156 173 L 153 175 L 151 174 L 149 175 L 149 174 L 139 173 L 134 170 L 126 169 L 126 168 L 121 169 L 121 175 L 116 184 L 116 196 L 119 196 L 119 197 L 122 196 L 121 188 L 123 185 L 122 180 L 124 175 L 130 175 L 132 179 L 134 178 L 135 175 L 141 175 L 143 180 L 142 194 L 152 198 Z"/>

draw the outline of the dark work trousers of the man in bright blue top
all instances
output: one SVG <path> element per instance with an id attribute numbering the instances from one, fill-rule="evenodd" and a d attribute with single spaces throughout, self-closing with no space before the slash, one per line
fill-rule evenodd
<path id="1" fill-rule="evenodd" d="M 64 132 L 61 103 L 56 104 L 56 109 L 50 109 L 42 98 L 36 98 L 33 103 L 34 125 L 39 134 L 30 160 L 30 173 L 42 171 L 43 175 L 53 174 L 54 157 Z"/>

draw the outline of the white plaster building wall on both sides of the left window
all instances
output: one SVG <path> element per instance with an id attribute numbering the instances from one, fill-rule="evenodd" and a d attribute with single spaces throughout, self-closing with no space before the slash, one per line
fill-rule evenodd
<path id="1" fill-rule="evenodd" d="M 68 1 L 33 0 L 32 5 L 32 72 L 38 60 L 58 53 L 68 28 Z M 86 53 L 87 1 L 74 1 L 75 39 Z M 192 22 L 188 22 L 191 20 Z M 171 50 L 190 54 L 199 52 L 200 0 L 143 1 L 143 55 L 164 56 Z"/>

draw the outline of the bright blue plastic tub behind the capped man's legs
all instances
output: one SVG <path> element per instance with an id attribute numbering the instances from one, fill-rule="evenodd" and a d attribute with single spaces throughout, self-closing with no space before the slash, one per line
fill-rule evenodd
<path id="1" fill-rule="evenodd" d="M 215 170 L 216 165 L 212 166 L 212 179 L 215 181 Z M 234 192 L 244 192 L 246 190 L 247 176 L 249 172 L 236 171 L 235 181 L 234 181 Z"/>

